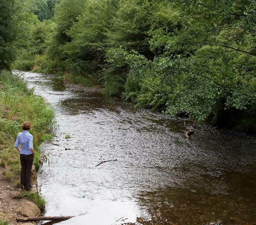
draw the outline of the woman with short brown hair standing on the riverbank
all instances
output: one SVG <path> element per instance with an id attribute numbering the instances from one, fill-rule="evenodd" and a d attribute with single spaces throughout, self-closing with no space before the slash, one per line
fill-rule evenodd
<path id="1" fill-rule="evenodd" d="M 26 189 L 26 191 L 29 191 L 35 186 L 31 184 L 31 170 L 35 151 L 33 148 L 33 136 L 28 132 L 30 128 L 30 122 L 25 121 L 22 123 L 23 132 L 18 134 L 14 145 L 14 147 L 20 152 L 20 189 Z"/>

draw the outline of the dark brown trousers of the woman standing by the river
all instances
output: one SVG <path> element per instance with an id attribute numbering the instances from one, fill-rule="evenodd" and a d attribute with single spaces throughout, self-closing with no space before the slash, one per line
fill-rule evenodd
<path id="1" fill-rule="evenodd" d="M 28 191 L 31 187 L 31 170 L 33 165 L 34 156 L 20 154 L 20 188 Z"/>

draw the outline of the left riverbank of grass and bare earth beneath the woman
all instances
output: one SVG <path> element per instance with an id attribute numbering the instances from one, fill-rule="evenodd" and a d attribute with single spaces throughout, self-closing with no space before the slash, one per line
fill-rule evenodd
<path id="1" fill-rule="evenodd" d="M 45 202 L 37 191 L 19 193 L 20 159 L 13 147 L 16 135 L 21 132 L 22 121 L 31 121 L 36 151 L 33 183 L 36 184 L 36 169 L 42 163 L 40 143 L 52 137 L 55 114 L 42 97 L 28 89 L 19 75 L 0 72 L 0 92 L 0 224 L 17 224 L 16 217 L 40 214 Z"/>

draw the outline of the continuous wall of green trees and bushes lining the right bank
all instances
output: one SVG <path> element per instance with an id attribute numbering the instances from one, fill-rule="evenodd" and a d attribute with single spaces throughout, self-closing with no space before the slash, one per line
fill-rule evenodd
<path id="1" fill-rule="evenodd" d="M 254 0 L 62 0 L 30 29 L 17 68 L 255 130 L 255 19 Z"/>

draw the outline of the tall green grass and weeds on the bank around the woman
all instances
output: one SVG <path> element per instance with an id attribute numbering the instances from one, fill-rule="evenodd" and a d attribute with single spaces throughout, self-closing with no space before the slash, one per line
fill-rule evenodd
<path id="1" fill-rule="evenodd" d="M 55 125 L 54 117 L 50 105 L 43 98 L 35 96 L 20 76 L 9 71 L 0 72 L 0 166 L 4 180 L 17 185 L 20 183 L 20 159 L 14 142 L 22 131 L 21 123 L 32 123 L 30 132 L 34 136 L 36 151 L 34 165 L 39 168 L 39 146 L 42 141 L 50 139 L 50 131 Z M 40 202 L 42 207 L 42 201 L 35 202 Z"/>

